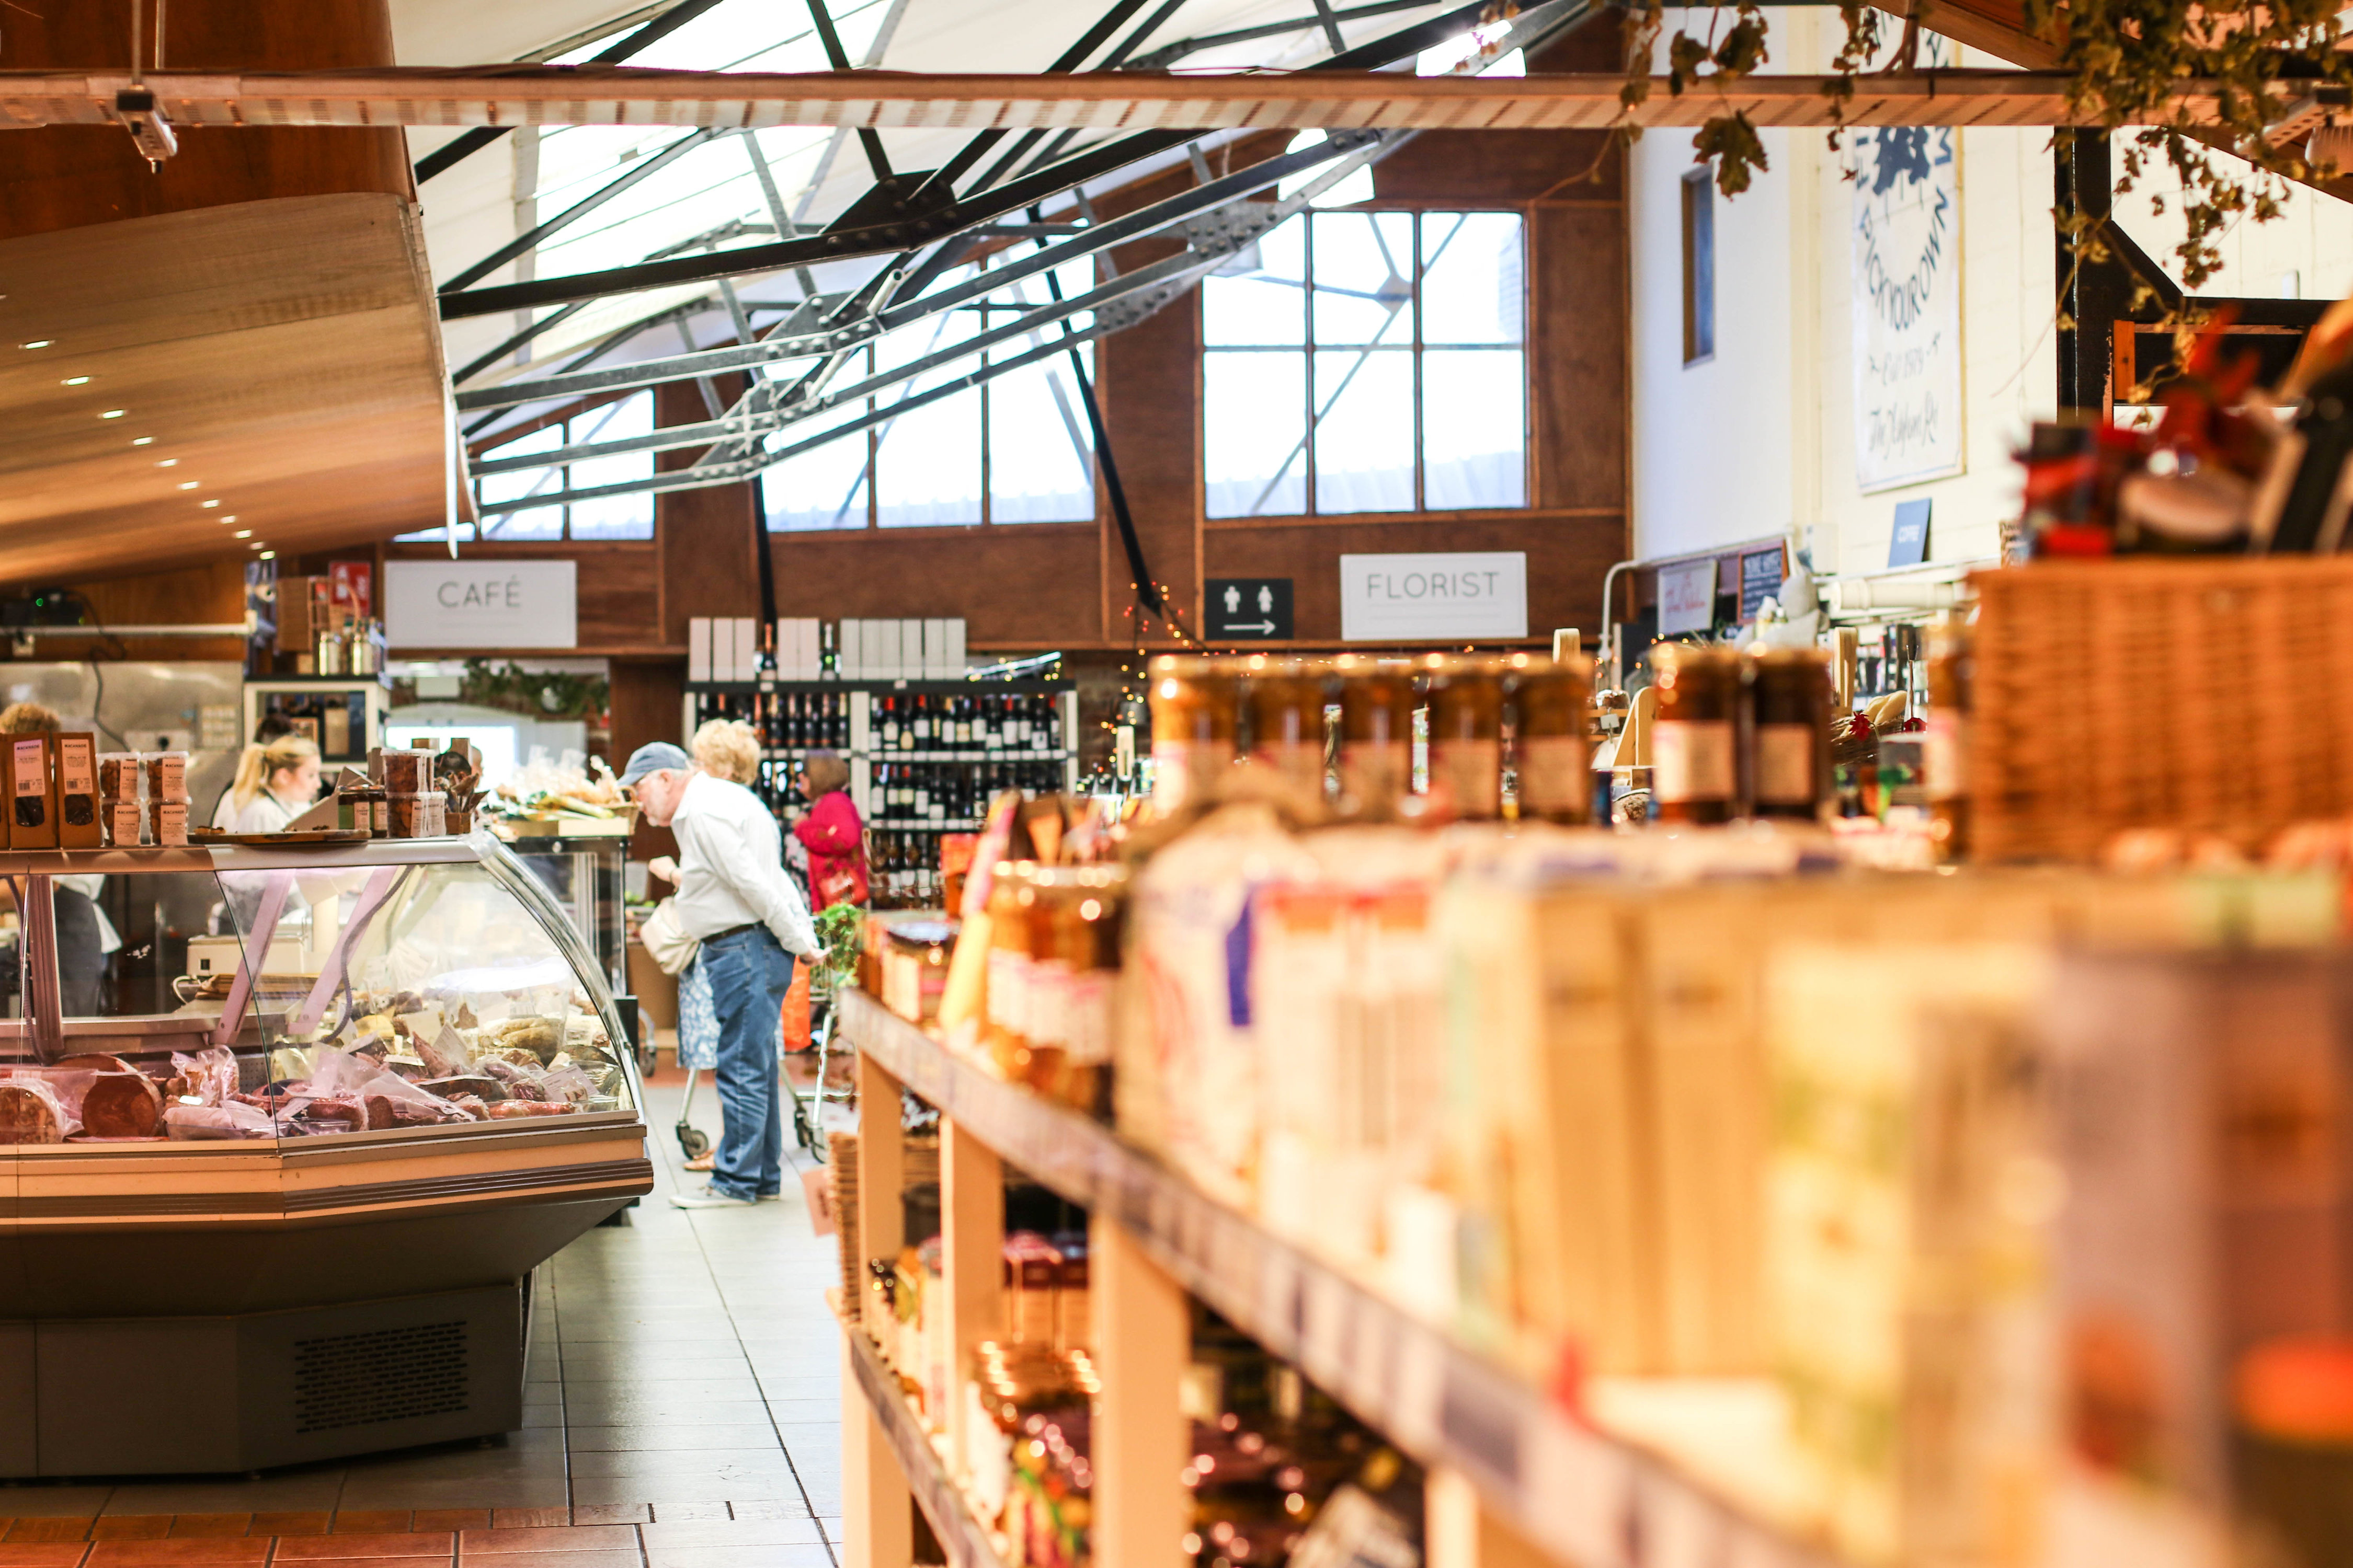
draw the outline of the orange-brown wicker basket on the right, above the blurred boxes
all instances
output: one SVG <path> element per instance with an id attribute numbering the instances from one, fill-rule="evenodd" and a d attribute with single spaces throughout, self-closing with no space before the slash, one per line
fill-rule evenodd
<path id="1" fill-rule="evenodd" d="M 2353 813 L 2353 559 L 2042 562 L 1974 583 L 1979 858 L 2089 860 L 2125 827 L 2252 851 Z"/>

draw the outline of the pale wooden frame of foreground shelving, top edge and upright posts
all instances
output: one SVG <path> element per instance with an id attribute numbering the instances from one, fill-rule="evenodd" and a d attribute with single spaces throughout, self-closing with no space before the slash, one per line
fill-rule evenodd
<path id="1" fill-rule="evenodd" d="M 1751 1519 L 1666 1460 L 1595 1432 L 1544 1389 L 1207 1199 L 1111 1128 L 981 1072 L 871 997 L 845 994 L 842 1030 L 861 1053 L 861 1107 L 896 1110 L 896 1088 L 906 1086 L 941 1112 L 941 1229 L 958 1366 L 995 1326 L 986 1300 L 967 1305 L 967 1293 L 986 1293 L 958 1279 L 958 1255 L 979 1260 L 988 1248 L 988 1262 L 972 1272 L 986 1272 L 993 1293 L 1002 1246 L 1002 1237 L 972 1234 L 981 1206 L 960 1204 L 958 1192 L 984 1180 L 993 1187 L 1002 1161 L 1092 1215 L 1104 1568 L 1179 1561 L 1186 1293 L 1428 1467 L 1428 1568 L 1833 1568 L 1831 1556 Z M 866 1164 L 868 1147 L 889 1171 Z M 896 1138 L 861 1138 L 859 1157 L 861 1192 L 896 1192 Z M 873 1206 L 861 1206 L 861 1229 L 864 1208 Z M 896 1213 L 885 1225 L 896 1225 Z M 875 1251 L 878 1241 L 889 1246 Z M 894 1253 L 899 1241 L 868 1232 L 864 1255 Z M 899 1415 L 908 1418 L 904 1401 Z M 854 1418 L 845 1413 L 845 1432 Z M 894 1483 L 904 1497 L 904 1481 Z M 859 1552 L 856 1497 L 849 1509 L 852 1568 L 904 1568 L 904 1556 Z"/>

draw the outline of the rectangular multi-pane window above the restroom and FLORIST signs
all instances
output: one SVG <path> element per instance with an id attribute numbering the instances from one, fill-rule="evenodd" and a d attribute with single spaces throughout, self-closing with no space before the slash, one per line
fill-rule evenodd
<path id="1" fill-rule="evenodd" d="M 1200 289 L 1209 517 L 1527 505 L 1513 212 L 1313 212 Z"/>

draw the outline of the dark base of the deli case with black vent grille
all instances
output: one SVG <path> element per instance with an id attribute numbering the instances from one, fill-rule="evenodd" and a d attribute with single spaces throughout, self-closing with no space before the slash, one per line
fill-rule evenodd
<path id="1" fill-rule="evenodd" d="M 249 1472 L 522 1427 L 525 1286 L 0 1321 L 0 1476 Z"/>

